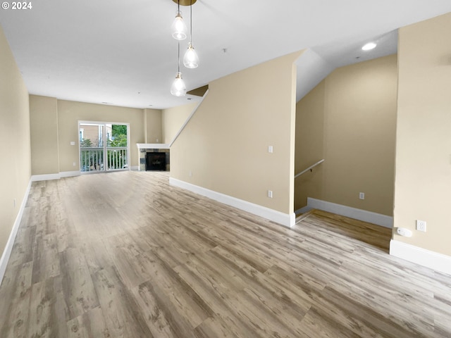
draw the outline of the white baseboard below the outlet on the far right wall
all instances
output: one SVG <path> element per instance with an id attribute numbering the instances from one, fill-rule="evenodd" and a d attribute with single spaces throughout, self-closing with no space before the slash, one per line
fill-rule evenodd
<path id="1" fill-rule="evenodd" d="M 451 275 L 451 256 L 392 239 L 390 255 Z"/>

